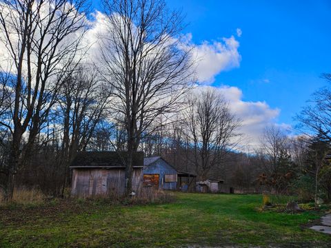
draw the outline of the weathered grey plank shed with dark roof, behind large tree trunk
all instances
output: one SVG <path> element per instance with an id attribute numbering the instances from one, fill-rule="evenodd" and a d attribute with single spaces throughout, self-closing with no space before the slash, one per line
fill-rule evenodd
<path id="1" fill-rule="evenodd" d="M 126 152 L 79 152 L 72 161 L 72 196 L 121 196 L 125 192 Z M 132 189 L 142 183 L 143 152 L 133 156 Z"/>

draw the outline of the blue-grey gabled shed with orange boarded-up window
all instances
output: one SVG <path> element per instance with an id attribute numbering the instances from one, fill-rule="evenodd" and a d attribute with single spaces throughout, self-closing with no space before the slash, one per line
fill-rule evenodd
<path id="1" fill-rule="evenodd" d="M 144 158 L 143 185 L 156 189 L 177 189 L 177 170 L 161 156 Z"/>

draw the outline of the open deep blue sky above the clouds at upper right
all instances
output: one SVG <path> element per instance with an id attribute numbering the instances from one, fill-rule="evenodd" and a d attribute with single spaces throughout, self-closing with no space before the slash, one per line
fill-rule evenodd
<path id="1" fill-rule="evenodd" d="M 185 14 L 192 43 L 234 36 L 240 65 L 215 74 L 212 85 L 238 87 L 242 101 L 279 109 L 274 122 L 294 125 L 293 116 L 325 85 L 320 76 L 331 72 L 331 1 L 166 1 Z M 101 10 L 98 1 L 93 6 Z"/>

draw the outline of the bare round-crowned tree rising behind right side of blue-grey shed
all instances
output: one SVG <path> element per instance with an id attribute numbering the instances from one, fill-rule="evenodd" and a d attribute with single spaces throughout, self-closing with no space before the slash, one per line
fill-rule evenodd
<path id="1" fill-rule="evenodd" d="M 204 180 L 210 169 L 220 165 L 238 136 L 239 119 L 230 113 L 223 96 L 211 88 L 199 90 L 185 111 L 188 136 L 194 145 L 196 172 Z"/>

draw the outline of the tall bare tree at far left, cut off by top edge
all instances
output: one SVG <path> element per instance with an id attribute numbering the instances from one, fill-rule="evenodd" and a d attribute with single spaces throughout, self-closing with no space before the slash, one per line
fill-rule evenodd
<path id="1" fill-rule="evenodd" d="M 0 2 L 0 41 L 10 55 L 14 75 L 9 121 L 10 158 L 6 199 L 12 198 L 14 176 L 34 144 L 59 92 L 54 85 L 74 63 L 86 28 L 85 1 L 5 0 Z M 61 80 L 60 80 L 61 81 Z M 23 143 L 23 134 L 28 137 Z"/>

